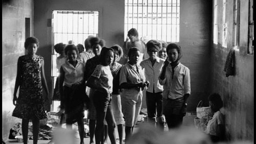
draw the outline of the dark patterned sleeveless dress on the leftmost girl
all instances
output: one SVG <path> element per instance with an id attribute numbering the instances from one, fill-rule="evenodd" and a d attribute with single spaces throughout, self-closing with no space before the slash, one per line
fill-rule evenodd
<path id="1" fill-rule="evenodd" d="M 20 65 L 20 85 L 17 105 L 12 116 L 18 118 L 38 118 L 47 117 L 42 98 L 41 66 L 43 57 L 37 56 L 32 59 L 28 55 L 19 57 Z"/>

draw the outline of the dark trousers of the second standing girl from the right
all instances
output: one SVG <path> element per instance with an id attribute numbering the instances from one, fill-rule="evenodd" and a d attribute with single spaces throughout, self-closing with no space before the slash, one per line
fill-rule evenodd
<path id="1" fill-rule="evenodd" d="M 146 107 L 147 116 L 150 118 L 160 117 L 163 115 L 162 102 L 163 96 L 162 91 L 157 93 L 151 93 L 146 91 Z"/>

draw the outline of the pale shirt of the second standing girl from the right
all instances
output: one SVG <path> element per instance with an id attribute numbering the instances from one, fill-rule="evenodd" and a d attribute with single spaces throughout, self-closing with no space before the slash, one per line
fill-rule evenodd
<path id="1" fill-rule="evenodd" d="M 150 59 L 145 59 L 140 63 L 142 69 L 144 69 L 144 74 L 146 81 L 150 82 L 146 91 L 153 93 L 163 91 L 163 86 L 159 83 L 158 77 L 160 75 L 161 69 L 164 65 L 164 59 L 156 57 L 156 62 L 152 66 Z"/>

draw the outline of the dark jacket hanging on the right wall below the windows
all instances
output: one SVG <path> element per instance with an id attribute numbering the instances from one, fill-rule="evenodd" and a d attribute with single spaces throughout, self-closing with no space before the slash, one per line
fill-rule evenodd
<path id="1" fill-rule="evenodd" d="M 224 71 L 226 72 L 226 77 L 234 76 L 234 47 L 228 52 Z"/>

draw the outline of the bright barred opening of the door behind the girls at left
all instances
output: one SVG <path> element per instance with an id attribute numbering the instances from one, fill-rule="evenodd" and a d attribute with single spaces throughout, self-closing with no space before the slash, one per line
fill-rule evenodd
<path id="1" fill-rule="evenodd" d="M 98 36 L 98 16 L 98 11 L 53 11 L 54 44 L 69 40 L 83 44 L 89 35 Z"/>

